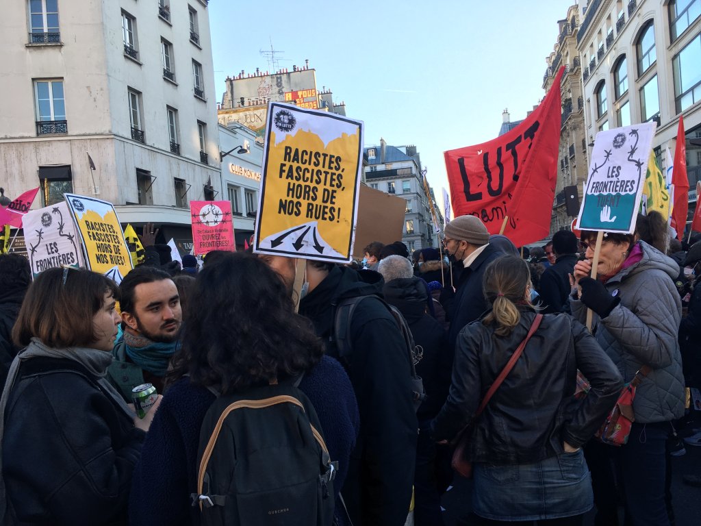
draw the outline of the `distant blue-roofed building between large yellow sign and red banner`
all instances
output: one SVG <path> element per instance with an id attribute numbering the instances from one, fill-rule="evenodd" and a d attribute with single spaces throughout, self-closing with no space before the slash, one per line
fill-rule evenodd
<path id="1" fill-rule="evenodd" d="M 393 194 L 407 201 L 402 242 L 409 252 L 437 247 L 438 239 L 431 217 L 429 200 L 440 214 L 435 198 L 426 194 L 421 173 L 421 158 L 415 146 L 388 146 L 380 139 L 379 146 L 366 147 L 365 182 L 371 188 Z M 364 163 L 365 164 L 365 163 Z M 442 217 L 437 218 L 442 222 Z"/>

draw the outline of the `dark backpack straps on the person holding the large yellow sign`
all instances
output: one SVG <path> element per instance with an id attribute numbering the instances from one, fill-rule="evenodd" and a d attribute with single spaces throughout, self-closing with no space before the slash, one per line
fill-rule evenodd
<path id="1" fill-rule="evenodd" d="M 336 352 L 338 353 L 341 363 L 348 366 L 349 356 L 353 353 L 353 345 L 351 344 L 351 321 L 353 313 L 363 299 L 372 297 L 380 302 L 385 308 L 390 311 L 397 326 L 404 337 L 404 344 L 407 347 L 407 356 L 411 365 L 411 398 L 414 400 L 414 410 L 418 411 L 423 400 L 426 399 L 426 391 L 423 389 L 423 380 L 416 375 L 416 364 L 423 358 L 423 349 L 420 345 L 414 343 L 414 336 L 411 335 L 409 325 L 402 316 L 402 313 L 394 305 L 388 304 L 384 299 L 375 295 L 355 296 L 346 299 L 341 299 L 341 302 L 335 304 L 336 314 L 334 317 L 334 342 L 336 343 Z"/>

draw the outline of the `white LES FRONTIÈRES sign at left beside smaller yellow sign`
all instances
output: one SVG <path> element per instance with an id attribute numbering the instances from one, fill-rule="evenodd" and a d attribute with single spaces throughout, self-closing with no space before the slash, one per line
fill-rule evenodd
<path id="1" fill-rule="evenodd" d="M 29 210 L 22 217 L 32 277 L 54 267 L 84 267 L 80 237 L 66 203 Z"/>

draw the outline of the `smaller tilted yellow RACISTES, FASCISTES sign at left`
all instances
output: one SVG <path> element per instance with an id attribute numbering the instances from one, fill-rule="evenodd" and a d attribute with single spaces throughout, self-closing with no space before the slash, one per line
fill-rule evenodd
<path id="1" fill-rule="evenodd" d="M 86 267 L 119 283 L 134 267 L 114 205 L 94 197 L 63 196 L 81 238 Z"/>

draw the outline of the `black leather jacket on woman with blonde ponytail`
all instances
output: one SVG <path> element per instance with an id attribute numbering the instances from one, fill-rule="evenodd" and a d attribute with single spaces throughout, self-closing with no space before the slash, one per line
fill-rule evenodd
<path id="1" fill-rule="evenodd" d="M 536 313 L 522 311 L 509 337 L 494 325 L 470 323 L 458 336 L 448 400 L 433 422 L 435 440 L 451 440 L 470 422 L 479 401 L 526 337 Z M 575 400 L 577 369 L 592 388 Z M 472 461 L 527 464 L 579 447 L 611 410 L 622 388 L 618 369 L 586 328 L 571 316 L 547 314 L 522 356 L 479 417 Z"/>

